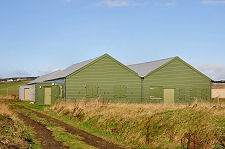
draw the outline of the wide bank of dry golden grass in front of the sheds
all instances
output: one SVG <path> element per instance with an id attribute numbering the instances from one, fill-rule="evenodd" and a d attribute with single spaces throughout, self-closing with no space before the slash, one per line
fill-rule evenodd
<path id="1" fill-rule="evenodd" d="M 131 148 L 225 147 L 225 105 L 59 102 L 46 111 Z"/>

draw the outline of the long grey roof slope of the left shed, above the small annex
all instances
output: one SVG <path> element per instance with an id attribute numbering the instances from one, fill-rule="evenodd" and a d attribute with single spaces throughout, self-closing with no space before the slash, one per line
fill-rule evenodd
<path id="1" fill-rule="evenodd" d="M 41 83 L 41 82 L 45 82 L 45 81 L 56 80 L 59 78 L 65 78 L 66 76 L 70 75 L 71 73 L 73 73 L 73 72 L 79 70 L 80 68 L 86 66 L 87 64 L 93 62 L 97 58 L 98 57 L 89 59 L 89 60 L 86 60 L 86 61 L 83 61 L 80 63 L 76 63 L 76 64 L 73 64 L 73 65 L 67 67 L 64 70 L 58 70 L 58 71 L 52 72 L 50 74 L 40 76 L 28 84 Z"/>

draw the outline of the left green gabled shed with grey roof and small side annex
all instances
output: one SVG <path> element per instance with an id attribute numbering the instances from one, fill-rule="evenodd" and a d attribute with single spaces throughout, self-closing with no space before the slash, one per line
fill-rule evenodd
<path id="1" fill-rule="evenodd" d="M 62 97 L 66 100 L 99 97 L 111 102 L 141 102 L 140 76 L 108 54 L 52 74 L 45 76 L 43 83 L 36 84 L 36 104 L 53 104 Z M 62 96 L 59 96 L 60 91 Z"/>

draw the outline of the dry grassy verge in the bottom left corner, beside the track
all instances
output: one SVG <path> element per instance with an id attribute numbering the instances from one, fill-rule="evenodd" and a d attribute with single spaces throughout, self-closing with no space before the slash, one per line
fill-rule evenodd
<path id="1" fill-rule="evenodd" d="M 9 106 L 0 102 L 0 148 L 35 148 L 33 132 L 16 117 Z"/>

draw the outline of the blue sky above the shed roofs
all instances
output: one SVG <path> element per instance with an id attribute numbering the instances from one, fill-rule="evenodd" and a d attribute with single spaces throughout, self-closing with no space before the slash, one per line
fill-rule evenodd
<path id="1" fill-rule="evenodd" d="M 225 79 L 225 0 L 0 0 L 0 77 L 104 53 L 124 64 L 179 56 Z"/>

